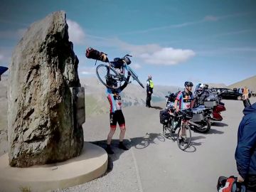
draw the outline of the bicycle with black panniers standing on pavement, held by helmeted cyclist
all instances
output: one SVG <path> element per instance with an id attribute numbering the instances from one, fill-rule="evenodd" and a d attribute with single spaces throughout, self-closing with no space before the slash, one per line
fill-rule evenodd
<path id="1" fill-rule="evenodd" d="M 188 126 L 188 120 L 192 118 L 191 109 L 175 112 L 167 108 L 160 111 L 160 123 L 163 124 L 164 137 L 177 140 L 178 148 L 183 151 L 191 144 L 191 128 Z"/>

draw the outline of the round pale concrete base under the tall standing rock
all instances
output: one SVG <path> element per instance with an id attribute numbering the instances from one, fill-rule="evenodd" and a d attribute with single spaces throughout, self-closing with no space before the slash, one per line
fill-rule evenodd
<path id="1" fill-rule="evenodd" d="M 8 154 L 0 157 L 0 191 L 50 191 L 79 185 L 102 176 L 107 153 L 100 146 L 84 143 L 80 156 L 57 164 L 15 168 Z"/>

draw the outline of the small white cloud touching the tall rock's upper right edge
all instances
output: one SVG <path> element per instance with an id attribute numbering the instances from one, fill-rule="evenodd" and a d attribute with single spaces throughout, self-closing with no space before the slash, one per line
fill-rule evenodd
<path id="1" fill-rule="evenodd" d="M 70 41 L 76 44 L 83 44 L 85 42 L 85 32 L 82 30 L 82 27 L 70 19 L 67 20 L 67 23 Z"/>

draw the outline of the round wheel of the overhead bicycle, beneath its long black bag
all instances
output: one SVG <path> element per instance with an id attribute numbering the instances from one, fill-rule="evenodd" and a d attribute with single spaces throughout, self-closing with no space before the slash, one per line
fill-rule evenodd
<path id="1" fill-rule="evenodd" d="M 110 68 L 110 66 L 108 65 L 105 65 L 105 64 L 98 65 L 96 68 L 96 75 L 97 75 L 97 78 L 100 80 L 100 82 L 106 87 L 116 90 L 121 86 L 121 82 L 117 83 L 117 87 L 112 87 L 110 85 L 107 85 L 106 83 L 107 78 L 114 78 L 117 81 L 119 80 L 118 78 L 119 74 L 115 70 Z"/>

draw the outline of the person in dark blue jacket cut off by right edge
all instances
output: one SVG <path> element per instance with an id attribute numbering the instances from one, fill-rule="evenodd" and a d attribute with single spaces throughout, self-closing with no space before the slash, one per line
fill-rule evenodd
<path id="1" fill-rule="evenodd" d="M 245 107 L 245 116 L 238 127 L 238 145 L 235 161 L 238 169 L 238 182 L 245 181 L 247 192 L 256 191 L 256 103 Z"/>

